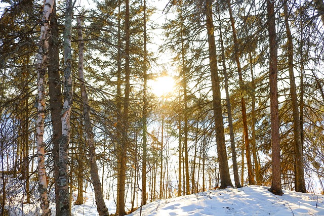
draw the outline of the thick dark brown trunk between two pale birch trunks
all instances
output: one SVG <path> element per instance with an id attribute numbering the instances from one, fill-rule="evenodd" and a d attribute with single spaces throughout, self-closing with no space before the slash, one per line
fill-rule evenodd
<path id="1" fill-rule="evenodd" d="M 62 90 L 61 78 L 59 74 L 59 32 L 56 17 L 56 6 L 54 4 L 51 14 L 51 28 L 49 37 L 49 96 L 51 106 L 51 121 L 53 128 L 52 142 L 53 142 L 53 164 L 54 164 L 54 187 L 55 187 L 55 205 L 56 216 L 60 215 L 60 196 L 58 191 L 59 183 L 59 142 L 62 136 Z"/>

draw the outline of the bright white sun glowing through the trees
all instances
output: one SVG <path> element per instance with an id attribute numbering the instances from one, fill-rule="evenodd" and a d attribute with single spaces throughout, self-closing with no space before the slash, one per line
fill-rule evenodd
<path id="1" fill-rule="evenodd" d="M 171 76 L 159 76 L 152 80 L 150 87 L 157 97 L 165 97 L 174 91 L 174 79 Z"/>

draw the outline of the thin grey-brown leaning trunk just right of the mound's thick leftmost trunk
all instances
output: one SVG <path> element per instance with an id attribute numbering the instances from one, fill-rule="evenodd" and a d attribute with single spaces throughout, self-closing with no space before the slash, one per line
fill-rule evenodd
<path id="1" fill-rule="evenodd" d="M 218 11 L 218 17 L 220 19 L 219 11 Z M 225 53 L 224 53 L 225 49 L 224 49 L 223 34 L 222 34 L 221 25 L 219 25 L 219 36 L 220 36 L 221 51 L 222 51 L 222 64 L 223 64 L 223 69 L 224 69 L 226 107 L 227 107 L 227 116 L 228 116 L 229 137 L 230 137 L 230 143 L 231 143 L 234 182 L 235 182 L 235 187 L 240 188 L 242 186 L 239 183 L 239 177 L 238 177 L 236 149 L 235 149 L 235 141 L 234 141 L 233 119 L 232 119 L 232 109 L 231 109 L 230 97 L 229 97 L 229 92 L 228 92 L 228 76 L 227 76 L 227 68 L 226 68 L 226 63 L 225 63 Z"/>

